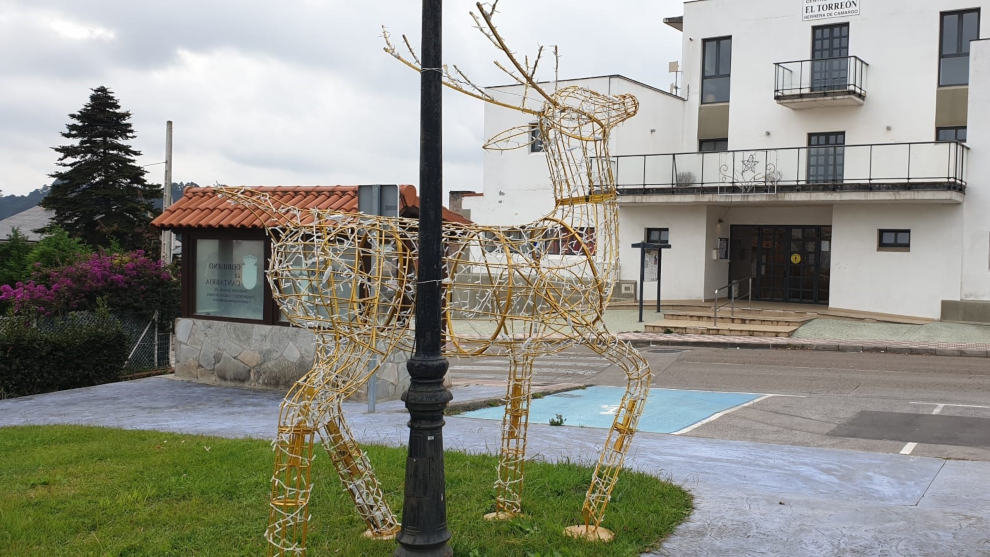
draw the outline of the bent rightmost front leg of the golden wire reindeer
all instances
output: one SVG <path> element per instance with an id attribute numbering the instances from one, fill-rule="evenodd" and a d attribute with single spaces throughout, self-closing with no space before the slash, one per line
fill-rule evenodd
<path id="1" fill-rule="evenodd" d="M 627 342 L 620 341 L 614 335 L 601 331 L 586 338 L 589 347 L 604 358 L 618 366 L 626 374 L 626 390 L 612 420 L 605 446 L 598 457 L 598 464 L 591 477 L 591 485 L 584 498 L 581 515 L 584 524 L 571 526 L 566 529 L 570 536 L 596 541 L 612 539 L 612 532 L 601 528 L 605 518 L 612 490 L 619 479 L 626 453 L 636 426 L 646 406 L 646 398 L 650 392 L 650 382 L 653 372 L 650 364 L 640 355 L 639 351 Z"/>

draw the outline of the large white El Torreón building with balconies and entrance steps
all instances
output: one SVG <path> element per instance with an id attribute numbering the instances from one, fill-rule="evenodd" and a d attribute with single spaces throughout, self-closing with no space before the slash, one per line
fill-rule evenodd
<path id="1" fill-rule="evenodd" d="M 621 76 L 571 82 L 641 102 L 610 144 L 621 278 L 638 279 L 630 246 L 661 229 L 664 299 L 752 276 L 764 300 L 990 314 L 988 6 L 695 0 L 664 20 L 683 35 L 680 96 Z M 521 87 L 489 91 L 518 102 Z M 525 123 L 486 105 L 489 137 Z M 475 221 L 553 206 L 542 153 L 527 151 L 485 153 L 485 195 L 465 199 Z"/>

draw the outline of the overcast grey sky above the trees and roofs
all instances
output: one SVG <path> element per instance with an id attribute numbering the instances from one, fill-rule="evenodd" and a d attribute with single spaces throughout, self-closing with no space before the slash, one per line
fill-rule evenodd
<path id="1" fill-rule="evenodd" d="M 502 0 L 495 22 L 517 53 L 559 45 L 561 78 L 666 89 L 680 35 L 661 19 L 680 4 Z M 504 84 L 473 7 L 444 2 L 444 62 Z M 418 48 L 419 18 L 411 0 L 0 0 L 0 191 L 50 182 L 67 115 L 99 85 L 133 114 L 143 165 L 174 121 L 177 182 L 415 184 L 419 78 L 382 51 L 381 25 Z M 481 189 L 482 124 L 480 101 L 445 92 L 445 189 Z"/>

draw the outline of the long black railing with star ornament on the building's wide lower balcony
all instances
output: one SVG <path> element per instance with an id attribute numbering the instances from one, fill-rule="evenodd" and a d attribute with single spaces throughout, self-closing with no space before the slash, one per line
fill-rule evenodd
<path id="1" fill-rule="evenodd" d="M 612 157 L 620 194 L 965 191 L 969 148 L 955 141 Z"/>

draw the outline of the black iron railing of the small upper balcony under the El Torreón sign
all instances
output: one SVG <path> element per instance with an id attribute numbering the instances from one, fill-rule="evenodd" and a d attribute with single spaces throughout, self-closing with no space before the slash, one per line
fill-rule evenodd
<path id="1" fill-rule="evenodd" d="M 836 94 L 864 98 L 869 66 L 857 56 L 777 62 L 773 65 L 773 96 L 778 100 Z"/>

